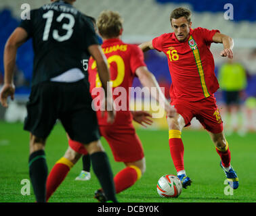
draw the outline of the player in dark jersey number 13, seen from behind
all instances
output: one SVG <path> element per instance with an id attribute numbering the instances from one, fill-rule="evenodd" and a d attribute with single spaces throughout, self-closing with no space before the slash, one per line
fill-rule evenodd
<path id="1" fill-rule="evenodd" d="M 111 96 L 106 97 L 106 107 L 113 108 L 109 100 L 112 92 L 107 92 L 110 75 L 93 24 L 72 6 L 74 1 L 54 1 L 30 11 L 31 19 L 22 20 L 9 37 L 4 51 L 5 81 L 0 94 L 1 104 L 7 107 L 7 97 L 14 99 L 17 49 L 28 38 L 33 38 L 33 80 L 24 130 L 30 132 L 29 173 L 37 202 L 46 201 L 44 148 L 56 119 L 60 119 L 70 138 L 85 145 L 95 175 L 108 193 L 108 200 L 117 202 L 112 171 L 99 140 L 97 117 L 91 107 L 89 83 L 80 59 L 89 59 L 91 55 L 97 61 L 102 87 Z M 107 113 L 108 121 L 114 121 L 114 109 Z M 78 159 L 79 156 L 69 161 L 64 156 L 60 165 L 70 168 Z"/>

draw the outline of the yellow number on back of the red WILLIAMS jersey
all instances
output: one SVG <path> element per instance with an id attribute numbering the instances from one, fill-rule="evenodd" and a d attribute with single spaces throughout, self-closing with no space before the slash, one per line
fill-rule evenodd
<path id="1" fill-rule="evenodd" d="M 112 82 L 112 87 L 120 86 L 123 82 L 123 79 L 125 78 L 125 63 L 120 55 L 112 55 L 108 57 L 108 68 L 110 68 L 110 63 L 115 62 L 116 63 L 116 68 L 117 68 L 117 74 L 116 78 L 114 80 L 111 80 Z M 97 67 L 96 61 L 93 61 L 91 64 L 91 70 L 94 70 Z M 101 87 L 102 82 L 100 82 L 100 77 L 97 72 L 96 78 L 95 78 L 95 87 Z"/>

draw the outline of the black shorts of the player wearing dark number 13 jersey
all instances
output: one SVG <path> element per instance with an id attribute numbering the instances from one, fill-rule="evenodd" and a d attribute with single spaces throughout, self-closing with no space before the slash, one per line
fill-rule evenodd
<path id="1" fill-rule="evenodd" d="M 95 111 L 91 108 L 89 86 L 84 80 L 72 83 L 43 82 L 33 86 L 26 104 L 24 130 L 47 138 L 60 119 L 72 140 L 89 144 L 99 140 Z"/>

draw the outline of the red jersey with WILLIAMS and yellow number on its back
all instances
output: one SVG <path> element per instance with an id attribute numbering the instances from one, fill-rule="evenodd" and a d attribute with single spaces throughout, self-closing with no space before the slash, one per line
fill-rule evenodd
<path id="1" fill-rule="evenodd" d="M 129 45 L 117 38 L 111 38 L 103 42 L 102 50 L 108 59 L 108 66 L 110 68 L 110 80 L 112 81 L 113 99 L 119 103 L 119 107 L 125 105 L 125 111 L 122 109 L 116 111 L 116 118 L 111 126 L 122 126 L 131 124 L 132 115 L 129 111 L 129 87 L 133 84 L 135 71 L 141 66 L 146 66 L 144 63 L 144 55 L 142 50 L 137 45 Z M 100 78 L 96 68 L 94 59 L 89 59 L 89 83 L 90 92 L 93 88 L 101 87 Z M 120 87 L 120 88 L 117 88 Z M 122 87 L 122 88 L 121 88 Z M 125 101 L 117 99 L 120 95 L 126 93 Z M 97 95 L 92 95 L 95 99 Z M 115 100 L 116 99 L 116 100 Z M 123 105 L 121 105 L 121 103 Z M 100 126 L 108 125 L 105 116 L 101 116 L 101 112 L 97 111 L 98 124 Z"/>

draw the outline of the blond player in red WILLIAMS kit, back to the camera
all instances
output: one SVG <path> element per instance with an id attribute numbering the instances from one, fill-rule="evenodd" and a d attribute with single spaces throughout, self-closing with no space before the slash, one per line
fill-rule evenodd
<path id="1" fill-rule="evenodd" d="M 146 162 L 142 143 L 135 133 L 132 119 L 140 124 L 150 124 L 150 119 L 144 111 L 129 111 L 129 87 L 132 86 L 133 78 L 137 76 L 143 86 L 156 90 L 152 96 L 161 102 L 168 117 L 174 117 L 175 108 L 169 104 L 165 95 L 158 86 L 154 75 L 148 71 L 144 63 L 144 55 L 137 45 L 130 45 L 121 41 L 123 32 L 123 20 L 121 16 L 114 11 L 102 11 L 97 21 L 98 30 L 103 38 L 102 50 L 106 55 L 110 67 L 110 79 L 112 81 L 113 99 L 116 102 L 121 99 L 121 110 L 116 110 L 116 118 L 113 124 L 107 121 L 107 115 L 102 117 L 101 111 L 97 111 L 100 134 L 106 138 L 114 155 L 115 161 L 125 163 L 125 169 L 122 169 L 114 176 L 114 186 L 116 193 L 129 188 L 139 180 L 146 169 Z M 93 58 L 89 59 L 88 65 L 90 92 L 93 101 L 97 101 L 98 90 L 102 86 L 96 62 Z M 96 92 L 96 93 L 95 93 Z M 95 103 L 95 106 L 97 103 Z M 119 104 L 116 104 L 116 107 Z M 122 108 L 123 107 L 123 108 Z M 56 190 L 60 183 L 66 177 L 68 171 L 81 155 L 86 155 L 87 151 L 79 142 L 68 141 L 69 148 L 64 157 L 54 165 L 47 178 L 47 200 Z M 66 169 L 60 169 L 59 164 L 64 161 L 70 161 L 70 166 Z M 100 202 L 106 202 L 104 192 L 97 190 L 95 198 Z"/>

